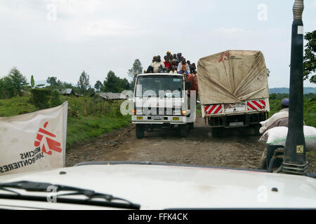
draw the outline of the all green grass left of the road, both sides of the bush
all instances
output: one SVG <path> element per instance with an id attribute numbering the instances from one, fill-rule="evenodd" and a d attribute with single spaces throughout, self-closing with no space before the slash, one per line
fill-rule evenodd
<path id="1" fill-rule="evenodd" d="M 68 101 L 67 148 L 84 141 L 92 141 L 95 137 L 124 127 L 131 121 L 131 116 L 122 116 L 119 112 L 122 101 L 105 102 L 98 96 L 60 97 L 60 100 Z M 34 111 L 37 111 L 37 108 L 31 103 L 30 95 L 0 99 L 0 117 Z"/>

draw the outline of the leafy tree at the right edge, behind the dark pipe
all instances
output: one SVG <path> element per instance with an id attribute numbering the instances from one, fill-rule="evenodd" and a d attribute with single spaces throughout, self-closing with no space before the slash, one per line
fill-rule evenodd
<path id="1" fill-rule="evenodd" d="M 304 38 L 308 43 L 305 45 L 303 58 L 303 77 L 304 80 L 310 78 L 310 83 L 316 83 L 316 30 L 306 33 Z M 310 74 L 312 75 L 310 76 Z"/>

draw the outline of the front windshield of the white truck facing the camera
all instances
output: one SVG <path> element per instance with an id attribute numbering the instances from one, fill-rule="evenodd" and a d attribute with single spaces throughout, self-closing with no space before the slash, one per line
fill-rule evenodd
<path id="1" fill-rule="evenodd" d="M 180 98 L 183 90 L 183 76 L 139 76 L 136 97 Z"/>

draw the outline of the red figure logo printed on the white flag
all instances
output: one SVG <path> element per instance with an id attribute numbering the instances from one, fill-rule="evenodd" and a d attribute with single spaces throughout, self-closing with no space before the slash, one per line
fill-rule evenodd
<path id="1" fill-rule="evenodd" d="M 51 155 L 52 151 L 61 153 L 62 148 L 60 148 L 60 143 L 52 139 L 56 137 L 55 134 L 45 130 L 47 125 L 48 125 L 48 122 L 44 124 L 44 129 L 41 127 L 39 128 L 39 132 L 37 133 L 38 141 L 37 140 L 34 141 L 34 146 L 35 147 L 41 146 L 41 151 L 48 155 Z"/>

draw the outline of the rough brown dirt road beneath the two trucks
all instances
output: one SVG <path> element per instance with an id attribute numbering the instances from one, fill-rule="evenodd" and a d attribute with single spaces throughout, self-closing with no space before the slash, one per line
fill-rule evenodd
<path id="1" fill-rule="evenodd" d="M 204 119 L 197 116 L 195 129 L 187 138 L 178 128 L 145 132 L 136 139 L 135 125 L 103 135 L 88 144 L 67 150 L 66 166 L 86 161 L 151 161 L 216 167 L 258 168 L 265 146 L 251 129 L 226 130 L 225 137 L 213 138 Z M 310 172 L 315 169 L 310 167 Z"/>

